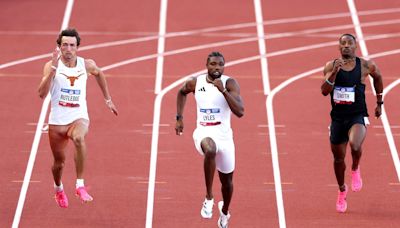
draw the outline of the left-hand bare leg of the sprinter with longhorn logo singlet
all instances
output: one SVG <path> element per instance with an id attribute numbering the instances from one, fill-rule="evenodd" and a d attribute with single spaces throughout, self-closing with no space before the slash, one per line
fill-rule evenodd
<path id="1" fill-rule="evenodd" d="M 68 144 L 67 126 L 49 125 L 49 141 L 53 153 L 52 173 L 54 183 L 61 185 L 62 172 L 65 165 L 65 148 Z"/>

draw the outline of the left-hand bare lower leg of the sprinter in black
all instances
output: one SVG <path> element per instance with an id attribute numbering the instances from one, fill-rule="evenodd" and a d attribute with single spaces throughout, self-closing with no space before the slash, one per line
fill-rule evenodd
<path id="1" fill-rule="evenodd" d="M 335 176 L 336 176 L 336 181 L 339 185 L 340 191 L 344 191 L 344 177 L 345 177 L 345 170 L 346 170 L 346 163 L 345 163 L 345 157 L 346 157 L 346 143 L 342 144 L 332 144 L 331 143 L 331 149 L 333 153 L 333 167 L 335 170 Z"/>

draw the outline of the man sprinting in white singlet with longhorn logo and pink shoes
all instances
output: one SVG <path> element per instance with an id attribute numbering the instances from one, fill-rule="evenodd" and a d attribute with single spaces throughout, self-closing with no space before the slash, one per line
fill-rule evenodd
<path id="1" fill-rule="evenodd" d="M 85 136 L 89 130 L 89 115 L 86 105 L 86 81 L 93 75 L 103 93 L 105 103 L 115 115 L 118 111 L 111 100 L 104 73 L 91 59 L 76 55 L 80 37 L 75 29 L 61 31 L 52 60 L 43 70 L 39 85 L 39 96 L 45 98 L 50 92 L 51 110 L 49 115 L 49 141 L 53 153 L 52 166 L 55 200 L 62 208 L 68 207 L 61 177 L 65 163 L 68 140 L 75 145 L 76 192 L 82 202 L 93 197 L 87 193 L 83 171 L 86 160 Z"/>

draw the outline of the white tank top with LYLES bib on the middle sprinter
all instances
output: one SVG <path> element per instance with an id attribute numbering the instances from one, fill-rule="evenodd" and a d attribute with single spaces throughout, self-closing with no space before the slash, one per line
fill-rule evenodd
<path id="1" fill-rule="evenodd" d="M 197 128 L 209 129 L 210 133 L 221 138 L 231 138 L 231 109 L 224 95 L 213 84 L 208 83 L 206 74 L 196 79 L 195 99 L 197 104 Z M 228 76 L 222 75 L 226 85 Z"/>

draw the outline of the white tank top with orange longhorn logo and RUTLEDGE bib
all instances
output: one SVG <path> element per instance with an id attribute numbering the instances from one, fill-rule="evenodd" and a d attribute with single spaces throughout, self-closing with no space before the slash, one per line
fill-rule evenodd
<path id="1" fill-rule="evenodd" d="M 61 60 L 50 88 L 49 124 L 67 125 L 83 118 L 89 120 L 86 104 L 87 72 L 85 60 L 77 57 L 76 67 L 66 67 Z"/>

